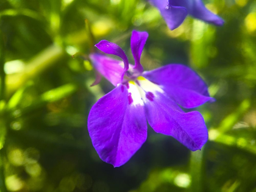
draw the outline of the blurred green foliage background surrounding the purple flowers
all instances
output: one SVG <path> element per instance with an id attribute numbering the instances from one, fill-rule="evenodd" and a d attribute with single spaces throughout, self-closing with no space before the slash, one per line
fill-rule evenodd
<path id="1" fill-rule="evenodd" d="M 188 17 L 171 31 L 144 0 L 0 0 L 0 191 L 256 191 L 256 1 L 205 0 L 226 23 Z M 88 33 L 88 22 L 95 41 Z M 90 87 L 88 55 L 106 39 L 129 56 L 147 30 L 146 70 L 183 63 L 209 85 L 197 108 L 209 141 L 190 152 L 154 133 L 126 165 L 102 162 L 87 131 L 107 80 Z"/>

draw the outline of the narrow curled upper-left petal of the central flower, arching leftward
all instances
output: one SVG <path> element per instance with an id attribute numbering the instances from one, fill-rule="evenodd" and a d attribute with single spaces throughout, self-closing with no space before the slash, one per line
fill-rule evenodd
<path id="1" fill-rule="evenodd" d="M 107 40 L 99 41 L 99 43 L 95 44 L 95 46 L 96 46 L 96 48 L 105 52 L 106 54 L 116 55 L 116 56 L 120 57 L 121 59 L 123 59 L 124 71 L 123 71 L 123 74 L 121 76 L 121 81 L 120 81 L 120 82 L 122 82 L 124 73 L 126 73 L 126 71 L 129 68 L 129 62 L 128 62 L 128 59 L 127 59 L 126 54 L 124 53 L 123 49 L 121 49 L 117 44 L 111 43 Z"/>

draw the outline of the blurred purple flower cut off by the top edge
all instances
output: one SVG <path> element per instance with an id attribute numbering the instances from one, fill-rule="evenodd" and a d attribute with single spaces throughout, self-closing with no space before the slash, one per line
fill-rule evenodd
<path id="1" fill-rule="evenodd" d="M 149 0 L 149 2 L 160 10 L 171 30 L 179 27 L 188 14 L 216 26 L 224 24 L 218 15 L 205 8 L 202 0 Z"/>

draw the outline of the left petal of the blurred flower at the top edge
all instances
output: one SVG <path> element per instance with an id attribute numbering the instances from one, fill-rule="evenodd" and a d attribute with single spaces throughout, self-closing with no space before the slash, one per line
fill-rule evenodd
<path id="1" fill-rule="evenodd" d="M 187 9 L 182 6 L 174 6 L 167 0 L 149 0 L 155 7 L 160 10 L 161 15 L 169 29 L 174 30 L 183 23 L 188 15 Z M 191 0 L 189 0 L 191 1 Z"/>

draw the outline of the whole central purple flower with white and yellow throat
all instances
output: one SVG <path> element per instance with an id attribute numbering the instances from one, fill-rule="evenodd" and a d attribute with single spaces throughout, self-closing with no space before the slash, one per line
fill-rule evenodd
<path id="1" fill-rule="evenodd" d="M 94 148 L 104 162 L 126 163 L 147 137 L 147 120 L 157 133 L 176 138 L 191 151 L 201 149 L 208 139 L 207 127 L 199 112 L 185 113 L 210 98 L 207 85 L 184 65 L 165 65 L 144 71 L 141 52 L 147 32 L 132 32 L 130 47 L 135 65 L 115 43 L 102 40 L 96 47 L 123 59 L 91 54 L 94 67 L 116 87 L 99 99 L 88 116 L 88 131 Z M 98 80 L 96 80 L 98 81 Z"/>

